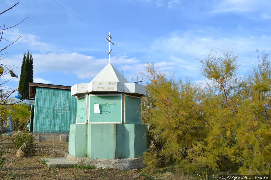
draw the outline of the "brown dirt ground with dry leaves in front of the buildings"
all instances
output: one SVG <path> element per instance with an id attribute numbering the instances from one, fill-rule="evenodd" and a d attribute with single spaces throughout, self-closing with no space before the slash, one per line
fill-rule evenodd
<path id="1" fill-rule="evenodd" d="M 68 152 L 68 143 L 65 142 L 35 142 L 31 153 L 24 158 L 17 158 L 17 150 L 14 150 L 11 136 L 3 136 L 3 144 L 8 160 L 0 168 L 0 179 L 111 179 L 111 180 L 143 180 L 156 179 L 140 174 L 140 171 L 106 169 L 72 168 L 48 168 L 41 163 L 42 157 L 64 157 Z M 1 139 L 2 140 L 2 139 Z"/>

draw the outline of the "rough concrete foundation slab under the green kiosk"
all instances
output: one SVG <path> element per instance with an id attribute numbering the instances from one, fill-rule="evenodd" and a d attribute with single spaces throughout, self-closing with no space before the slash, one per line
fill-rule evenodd
<path id="1" fill-rule="evenodd" d="M 82 166 L 94 166 L 95 168 L 115 168 L 121 170 L 142 169 L 143 165 L 139 158 L 124 159 L 90 159 L 88 157 L 74 157 L 66 153 L 65 158 Z"/>

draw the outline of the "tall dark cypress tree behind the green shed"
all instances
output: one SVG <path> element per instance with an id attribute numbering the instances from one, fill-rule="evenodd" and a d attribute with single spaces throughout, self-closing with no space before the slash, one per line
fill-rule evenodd
<path id="1" fill-rule="evenodd" d="M 25 99 L 29 96 L 29 82 L 33 82 L 33 58 L 32 53 L 29 55 L 29 51 L 27 52 L 25 61 L 23 59 L 20 82 L 19 93 L 22 95 L 21 99 Z"/>

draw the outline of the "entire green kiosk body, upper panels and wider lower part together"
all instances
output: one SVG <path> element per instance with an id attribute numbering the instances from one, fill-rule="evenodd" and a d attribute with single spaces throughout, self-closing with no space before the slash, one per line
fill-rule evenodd
<path id="1" fill-rule="evenodd" d="M 99 104 L 100 113 L 94 113 L 94 104 Z M 77 123 L 85 123 L 88 115 L 85 108 L 89 110 L 91 124 L 71 125 L 70 154 L 94 159 L 119 159 L 135 158 L 146 151 L 147 127 L 142 124 L 141 98 L 124 94 L 87 95 L 77 101 Z"/>

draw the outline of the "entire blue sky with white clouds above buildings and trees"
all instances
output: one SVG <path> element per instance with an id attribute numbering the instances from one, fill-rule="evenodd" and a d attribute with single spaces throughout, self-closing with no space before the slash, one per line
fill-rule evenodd
<path id="1" fill-rule="evenodd" d="M 16 3 L 3 0 L 0 11 Z M 22 0 L 0 15 L 5 27 L 29 17 L 5 31 L 10 42 L 22 38 L 1 63 L 14 65 L 20 75 L 29 50 L 34 82 L 88 83 L 109 63 L 110 31 L 111 63 L 130 82 L 147 61 L 176 78 L 202 82 L 200 60 L 218 48 L 239 54 L 244 75 L 255 63 L 256 49 L 271 50 L 270 9 L 269 0 Z M 17 88 L 18 79 L 5 85 Z"/>

